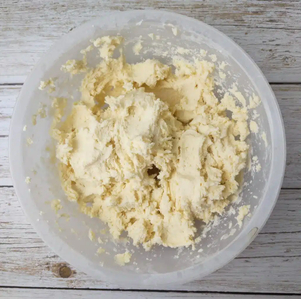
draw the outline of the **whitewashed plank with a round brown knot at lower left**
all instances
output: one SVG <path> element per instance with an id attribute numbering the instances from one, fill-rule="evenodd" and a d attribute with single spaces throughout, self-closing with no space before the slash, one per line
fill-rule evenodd
<path id="1" fill-rule="evenodd" d="M 202 281 L 168 289 L 298 293 L 301 291 L 300 202 L 301 190 L 281 190 L 262 232 L 236 259 Z M 62 265 L 66 264 L 39 239 L 26 220 L 14 189 L 0 188 L 2 286 L 118 288 L 90 278 L 72 266 L 71 276 L 61 278 L 58 269 Z"/>

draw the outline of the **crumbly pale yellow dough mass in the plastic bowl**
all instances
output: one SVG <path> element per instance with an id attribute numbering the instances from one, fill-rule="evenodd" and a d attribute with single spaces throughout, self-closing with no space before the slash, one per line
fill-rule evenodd
<path id="1" fill-rule="evenodd" d="M 145 250 L 193 246 L 194 221 L 222 214 L 237 193 L 248 151 L 247 108 L 231 93 L 218 101 L 212 62 L 174 60 L 175 71 L 154 59 L 128 64 L 122 52 L 112 58 L 122 42 L 95 40 L 103 59 L 93 69 L 88 48 L 82 61 L 62 66 L 85 73 L 81 100 L 65 121 L 66 102 L 53 103 L 62 187 L 115 239 L 126 231 Z"/>

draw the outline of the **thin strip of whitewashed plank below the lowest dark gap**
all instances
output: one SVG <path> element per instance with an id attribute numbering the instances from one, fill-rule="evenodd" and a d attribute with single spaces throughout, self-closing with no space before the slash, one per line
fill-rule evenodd
<path id="1" fill-rule="evenodd" d="M 10 299 L 253 299 L 252 294 L 212 294 L 212 293 L 180 293 L 180 292 L 137 292 L 137 291 L 95 291 L 95 290 L 49 290 L 49 289 L 21 289 L 0 288 L 1 298 Z M 256 295 L 256 299 L 275 298 L 274 295 Z M 285 299 L 288 296 L 280 295 L 277 299 Z M 300 299 L 301 296 L 294 296 Z"/>

